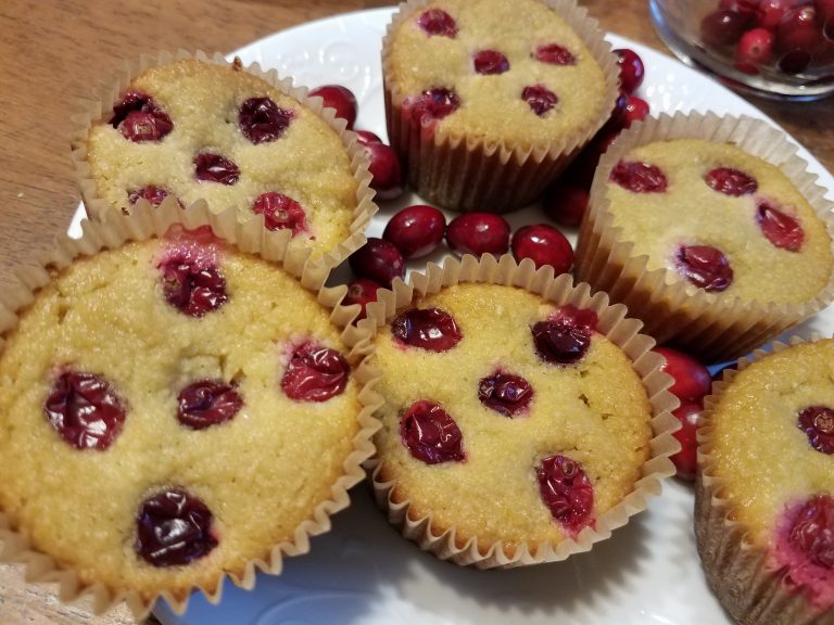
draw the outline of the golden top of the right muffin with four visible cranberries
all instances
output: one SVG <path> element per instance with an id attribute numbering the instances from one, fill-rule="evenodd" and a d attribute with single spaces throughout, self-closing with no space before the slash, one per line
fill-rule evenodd
<path id="1" fill-rule="evenodd" d="M 721 257 L 710 252 L 700 267 L 703 280 L 723 280 L 715 292 L 776 304 L 810 301 L 831 279 L 825 222 L 776 166 L 735 145 L 637 146 L 615 166 L 606 193 L 619 239 L 634 242 L 631 255 L 646 255 L 649 270 L 683 280 L 681 250 L 709 247 L 725 263 L 718 276 L 709 265 Z"/>

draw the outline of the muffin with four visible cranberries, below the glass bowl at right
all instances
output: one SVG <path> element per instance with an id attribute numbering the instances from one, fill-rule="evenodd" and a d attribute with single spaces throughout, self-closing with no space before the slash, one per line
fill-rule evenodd
<path id="1" fill-rule="evenodd" d="M 577 276 L 658 343 L 746 354 L 832 299 L 832 204 L 805 167 L 763 122 L 635 125 L 594 177 Z"/>

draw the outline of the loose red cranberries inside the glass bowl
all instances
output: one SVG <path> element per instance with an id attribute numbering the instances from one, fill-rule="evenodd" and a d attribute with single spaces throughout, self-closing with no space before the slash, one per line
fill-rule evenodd
<path id="1" fill-rule="evenodd" d="M 800 74 L 834 64 L 834 1 L 721 0 L 703 18 L 700 37 L 745 74 Z"/>

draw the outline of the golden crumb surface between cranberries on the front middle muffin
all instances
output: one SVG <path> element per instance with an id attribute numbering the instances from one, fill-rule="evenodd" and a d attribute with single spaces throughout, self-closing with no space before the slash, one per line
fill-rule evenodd
<path id="1" fill-rule="evenodd" d="M 387 401 L 377 436 L 381 477 L 396 481 L 393 496 L 412 502 L 412 518 L 431 513 L 435 527 L 456 527 L 458 537 L 478 537 L 479 545 L 532 548 L 576 536 L 631 493 L 648 457 L 650 408 L 617 346 L 593 332 L 579 362 L 542 360 L 531 328 L 560 310 L 520 289 L 458 284 L 417 306 L 450 315 L 462 337 L 446 350 L 431 352 L 404 345 L 387 326 L 377 340 L 374 361 L 384 373 L 377 388 Z M 532 388 L 513 416 L 480 398 L 484 380 L 496 373 L 518 377 Z M 414 435 L 404 434 L 403 418 L 419 401 L 439 404 L 456 423 L 457 458 L 428 463 L 412 451 Z M 560 494 L 593 496 L 586 514 L 568 524 L 554 519 L 540 493 L 538 471 L 554 456 L 569 459 L 579 468 L 573 476 L 584 472 L 590 482 L 571 486 L 567 479 Z"/>

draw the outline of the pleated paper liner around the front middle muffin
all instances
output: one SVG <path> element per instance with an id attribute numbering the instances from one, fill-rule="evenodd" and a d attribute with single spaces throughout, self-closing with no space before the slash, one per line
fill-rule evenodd
<path id="1" fill-rule="evenodd" d="M 565 538 L 557 544 L 488 543 L 478 536 L 463 535 L 454 526 L 440 526 L 430 512 L 421 515 L 419 507 L 413 507 L 407 494 L 397 488 L 396 480 L 387 476 L 390 472 L 384 459 L 379 456 L 366 462 L 367 469 L 371 471 L 377 503 L 405 538 L 441 560 L 450 560 L 458 565 L 509 569 L 561 561 L 573 553 L 587 551 L 595 543 L 609 538 L 611 532 L 626 525 L 631 516 L 645 510 L 647 501 L 660 494 L 662 480 L 675 473 L 669 457 L 680 450 L 680 444 L 672 436 L 672 432 L 680 428 L 680 422 L 671 414 L 679 401 L 667 391 L 672 379 L 661 371 L 665 361 L 659 354 L 650 350 L 655 341 L 639 333 L 642 323 L 626 317 L 624 306 L 609 305 L 605 293 L 592 296 L 587 284 L 574 286 L 569 275 L 554 279 L 551 267 L 536 270 L 529 259 L 517 264 L 509 255 L 502 256 L 500 260 L 490 254 L 484 254 L 480 260 L 471 255 L 460 260 L 450 257 L 443 266 L 430 263 L 426 273 L 413 272 L 407 284 L 396 279 L 392 290 L 380 290 L 378 301 L 368 304 L 367 319 L 361 321 L 359 326 L 378 333 L 379 328 L 390 323 L 399 310 L 412 304 L 415 296 L 433 295 L 462 282 L 517 286 L 556 305 L 572 304 L 578 308 L 594 310 L 598 316 L 597 331 L 632 360 L 646 388 L 652 406 L 649 458 L 643 464 L 641 477 L 635 482 L 633 490 L 620 503 L 601 514 L 596 527 L 585 527 L 576 539 Z M 380 420 L 391 410 L 396 410 L 396 407 L 383 405 L 378 412 Z"/>

